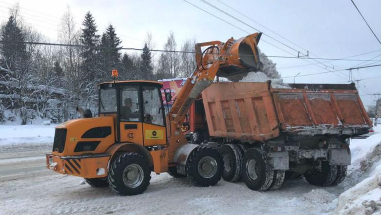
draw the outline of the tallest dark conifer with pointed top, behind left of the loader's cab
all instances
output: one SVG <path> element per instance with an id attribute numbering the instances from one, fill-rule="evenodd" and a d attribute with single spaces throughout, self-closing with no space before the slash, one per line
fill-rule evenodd
<path id="1" fill-rule="evenodd" d="M 99 35 L 97 35 L 97 25 L 90 11 L 86 13 L 82 24 L 84 28 L 82 29 L 81 43 L 90 46 L 84 48 L 82 52 L 82 71 L 86 80 L 94 81 L 95 68 L 97 67 L 96 49 L 94 47 L 99 43 Z"/>

